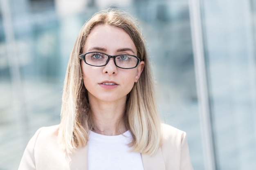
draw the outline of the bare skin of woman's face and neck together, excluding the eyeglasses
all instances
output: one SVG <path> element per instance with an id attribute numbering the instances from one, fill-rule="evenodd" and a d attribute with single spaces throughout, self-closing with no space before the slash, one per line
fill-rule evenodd
<path id="1" fill-rule="evenodd" d="M 83 53 L 102 52 L 108 55 L 129 54 L 137 56 L 130 36 L 122 29 L 108 25 L 95 26 L 84 44 Z M 138 81 L 144 68 L 141 61 L 136 68 L 115 66 L 111 58 L 106 66 L 90 66 L 81 61 L 83 82 L 94 115 L 94 131 L 102 135 L 120 135 L 126 132 L 123 121 L 126 97 Z M 106 85 L 110 83 L 113 85 Z"/>

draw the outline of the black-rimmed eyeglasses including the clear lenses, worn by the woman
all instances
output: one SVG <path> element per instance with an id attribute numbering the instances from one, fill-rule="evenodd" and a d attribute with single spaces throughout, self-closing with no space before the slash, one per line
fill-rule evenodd
<path id="1" fill-rule="evenodd" d="M 140 62 L 138 57 L 128 54 L 108 55 L 100 52 L 88 52 L 79 56 L 86 64 L 97 67 L 106 66 L 110 58 L 114 59 L 117 67 L 124 69 L 135 68 Z"/>

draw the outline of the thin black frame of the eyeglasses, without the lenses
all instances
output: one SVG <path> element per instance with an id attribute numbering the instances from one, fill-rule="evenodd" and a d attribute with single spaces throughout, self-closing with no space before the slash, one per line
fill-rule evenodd
<path id="1" fill-rule="evenodd" d="M 88 63 L 86 62 L 86 60 L 85 60 L 85 55 L 90 54 L 90 53 L 99 53 L 99 54 L 103 54 L 103 55 L 108 56 L 108 60 L 106 61 L 106 63 L 105 63 L 104 65 L 95 66 L 95 67 L 106 66 L 106 65 L 108 64 L 110 58 L 113 58 L 113 59 L 114 59 L 115 66 L 117 66 L 116 57 L 119 57 L 119 56 L 124 55 L 124 54 L 120 54 L 120 55 L 108 55 L 108 54 L 105 54 L 105 53 L 95 52 L 95 51 L 94 51 L 94 52 L 87 52 L 87 53 L 80 54 L 80 55 L 79 55 L 79 58 L 80 58 L 81 60 L 83 60 L 86 64 L 88 64 Z M 139 57 L 137 57 L 137 56 L 135 56 L 135 55 L 129 55 L 129 54 L 125 54 L 125 55 L 127 55 L 127 56 L 132 56 L 132 57 L 135 57 L 135 58 L 137 59 L 137 64 L 136 64 L 136 66 L 131 67 L 131 68 L 136 68 L 136 67 L 138 66 L 138 64 L 140 63 Z M 94 66 L 94 65 L 92 65 L 92 64 L 88 64 L 88 65 Z M 118 68 L 123 68 L 123 67 L 120 67 L 120 66 L 117 66 L 117 67 L 118 67 Z M 123 69 L 131 69 L 131 68 L 123 68 Z"/>

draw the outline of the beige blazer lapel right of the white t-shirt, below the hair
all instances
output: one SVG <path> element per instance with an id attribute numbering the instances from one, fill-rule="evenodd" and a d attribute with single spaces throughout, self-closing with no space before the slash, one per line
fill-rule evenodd
<path id="1" fill-rule="evenodd" d="M 165 170 L 164 157 L 161 147 L 158 148 L 155 155 L 141 154 L 144 170 Z"/>

